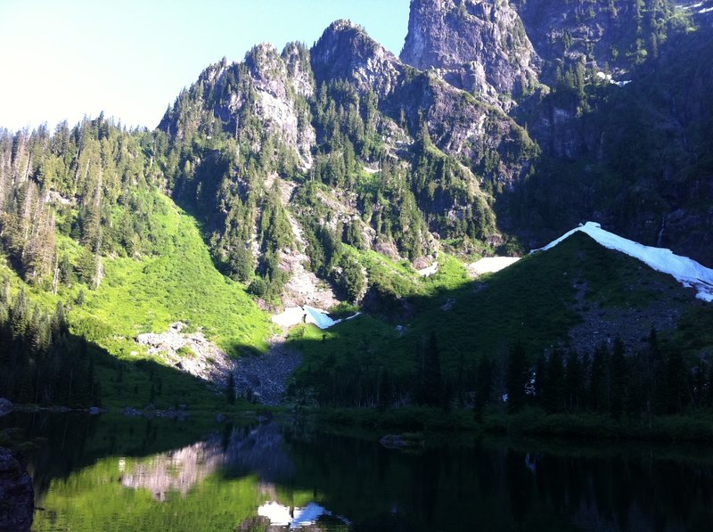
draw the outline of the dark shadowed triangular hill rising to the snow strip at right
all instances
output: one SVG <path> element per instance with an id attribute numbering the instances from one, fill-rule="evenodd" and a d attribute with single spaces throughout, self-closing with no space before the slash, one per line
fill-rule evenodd
<path id="1" fill-rule="evenodd" d="M 599 228 L 591 233 L 608 234 L 608 246 L 622 241 Z M 475 281 L 463 276 L 449 290 L 415 299 L 414 312 L 396 327 L 359 316 L 326 333 L 313 334 L 305 326 L 291 331 L 291 345 L 308 354 L 296 373 L 296 388 L 312 390 L 324 405 L 390 405 L 399 397 L 419 397 L 430 371 L 423 365 L 432 350 L 430 337 L 438 343 L 439 386 L 459 400 L 478 389 L 482 364 L 489 364 L 494 397 L 498 390 L 504 393 L 513 346 L 526 354 L 522 364 L 529 378 L 538 371 L 538 356 L 552 360 L 553 353 L 562 358 L 573 353 L 574 364 L 582 364 L 581 378 L 589 379 L 594 354 L 611 349 L 616 340 L 632 361 L 627 374 L 643 378 L 652 368 L 635 366 L 648 360 L 652 330 L 670 339 L 661 349 L 681 356 L 686 368 L 693 364 L 688 374 L 708 374 L 708 365 L 696 370 L 695 364 L 713 345 L 709 303 L 696 302 L 695 291 L 671 275 L 609 250 L 583 231 L 565 236 L 496 274 Z M 627 250 L 635 247 L 627 243 Z M 333 385 L 335 374 L 342 376 L 339 387 Z M 488 402 L 492 399 L 488 395 Z"/>

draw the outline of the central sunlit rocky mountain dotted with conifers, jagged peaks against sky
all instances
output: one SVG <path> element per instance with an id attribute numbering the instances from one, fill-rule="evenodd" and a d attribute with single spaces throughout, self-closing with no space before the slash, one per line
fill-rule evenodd
<path id="1" fill-rule="evenodd" d="M 347 243 L 412 261 L 434 254 L 438 239 L 495 250 L 509 241 L 495 197 L 537 154 L 502 110 L 407 66 L 345 20 L 311 50 L 259 45 L 242 63 L 211 66 L 159 129 L 173 196 L 215 234 L 228 274 L 246 280 L 254 269 L 267 299 L 289 282 L 279 248 L 294 244 L 292 233 L 320 255 L 349 231 Z M 268 208 L 292 225 L 272 250 L 258 230 Z M 323 278 L 337 266 L 327 258 L 311 268 Z"/>

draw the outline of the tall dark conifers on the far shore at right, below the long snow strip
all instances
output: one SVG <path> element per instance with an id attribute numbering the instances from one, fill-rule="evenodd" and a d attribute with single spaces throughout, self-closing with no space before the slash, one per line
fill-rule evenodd
<path id="1" fill-rule="evenodd" d="M 505 386 L 509 412 L 526 405 L 547 413 L 602 413 L 614 419 L 680 414 L 713 405 L 713 365 L 699 358 L 689 364 L 679 348 L 664 348 L 655 329 L 646 348 L 627 349 L 617 338 L 600 344 L 591 355 L 554 349 L 528 363 L 524 349 L 510 350 Z M 710 367 L 709 367 L 710 365 Z M 477 369 L 482 388 L 475 409 L 497 403 L 493 366 L 484 359 Z"/>

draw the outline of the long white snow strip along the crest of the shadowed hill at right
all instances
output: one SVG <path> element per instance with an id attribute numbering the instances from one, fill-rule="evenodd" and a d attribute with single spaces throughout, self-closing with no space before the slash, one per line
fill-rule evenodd
<path id="1" fill-rule="evenodd" d="M 695 288 L 698 292 L 696 296 L 698 299 L 713 301 L 713 270 L 701 265 L 693 258 L 675 255 L 671 250 L 644 246 L 638 242 L 622 238 L 618 234 L 604 231 L 602 225 L 595 222 L 587 222 L 585 225 L 580 225 L 569 233 L 563 234 L 557 240 L 550 242 L 544 248 L 532 250 L 530 253 L 549 250 L 577 232 L 588 234 L 605 248 L 617 250 L 627 254 L 629 257 L 637 258 L 654 270 L 673 275 L 676 281 L 685 287 Z"/>

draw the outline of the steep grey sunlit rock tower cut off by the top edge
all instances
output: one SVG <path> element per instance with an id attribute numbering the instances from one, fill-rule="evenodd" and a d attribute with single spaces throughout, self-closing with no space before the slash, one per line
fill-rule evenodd
<path id="1" fill-rule="evenodd" d="M 495 102 L 537 83 L 537 53 L 507 2 L 414 0 L 401 59 Z"/>

